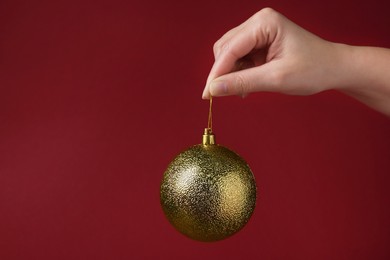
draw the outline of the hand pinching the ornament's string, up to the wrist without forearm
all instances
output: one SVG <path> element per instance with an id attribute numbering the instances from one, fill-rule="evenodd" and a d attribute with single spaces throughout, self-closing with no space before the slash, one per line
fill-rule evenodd
<path id="1" fill-rule="evenodd" d="M 214 45 L 203 98 L 256 91 L 308 95 L 329 88 L 336 55 L 331 42 L 265 8 Z"/>

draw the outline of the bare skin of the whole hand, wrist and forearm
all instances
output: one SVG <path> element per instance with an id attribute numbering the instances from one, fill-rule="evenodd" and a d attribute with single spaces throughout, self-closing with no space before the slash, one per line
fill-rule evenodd
<path id="1" fill-rule="evenodd" d="M 329 42 L 265 8 L 214 44 L 203 99 L 338 90 L 390 116 L 390 49 Z"/>

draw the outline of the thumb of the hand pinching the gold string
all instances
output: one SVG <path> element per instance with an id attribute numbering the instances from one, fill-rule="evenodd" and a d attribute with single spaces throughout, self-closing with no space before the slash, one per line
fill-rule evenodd
<path id="1" fill-rule="evenodd" d="M 231 72 L 210 82 L 212 96 L 246 96 L 258 91 L 278 91 L 277 70 L 271 63 L 250 69 Z"/>

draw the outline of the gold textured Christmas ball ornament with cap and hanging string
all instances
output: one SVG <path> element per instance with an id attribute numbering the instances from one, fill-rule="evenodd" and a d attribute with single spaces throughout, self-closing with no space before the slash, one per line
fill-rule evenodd
<path id="1" fill-rule="evenodd" d="M 199 241 L 225 239 L 242 229 L 256 204 L 256 183 L 248 164 L 215 143 L 212 99 L 202 144 L 180 153 L 164 173 L 160 202 L 169 222 Z"/>

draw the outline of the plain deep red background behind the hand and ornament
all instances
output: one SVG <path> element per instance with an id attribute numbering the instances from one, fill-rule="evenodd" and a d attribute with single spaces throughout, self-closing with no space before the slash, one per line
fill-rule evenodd
<path id="1" fill-rule="evenodd" d="M 336 92 L 215 99 L 258 185 L 217 243 L 159 204 L 199 143 L 224 32 L 271 6 L 332 41 L 390 47 L 387 1 L 0 1 L 0 259 L 389 259 L 390 120 Z"/>

